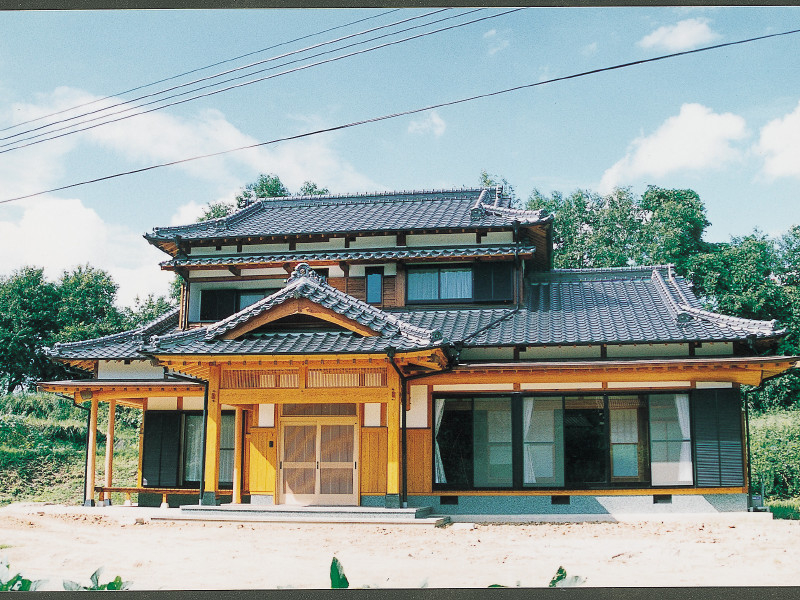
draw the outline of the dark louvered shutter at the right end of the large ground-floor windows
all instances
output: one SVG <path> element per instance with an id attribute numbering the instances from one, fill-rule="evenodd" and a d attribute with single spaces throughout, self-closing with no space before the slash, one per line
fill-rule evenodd
<path id="1" fill-rule="evenodd" d="M 698 487 L 744 485 L 739 391 L 695 390 L 692 423 Z"/>

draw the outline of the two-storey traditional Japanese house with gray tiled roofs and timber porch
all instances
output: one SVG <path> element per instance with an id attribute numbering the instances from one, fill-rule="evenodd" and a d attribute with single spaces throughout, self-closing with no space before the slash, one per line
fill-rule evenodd
<path id="1" fill-rule="evenodd" d="M 88 498 L 747 510 L 739 386 L 794 365 L 772 355 L 783 330 L 704 310 L 670 266 L 553 269 L 551 227 L 498 187 L 154 229 L 179 307 L 57 344 L 91 378 L 41 384 L 95 424 L 100 402 L 144 412 L 134 488 L 111 486 L 110 452 L 95 481 L 92 427 Z"/>

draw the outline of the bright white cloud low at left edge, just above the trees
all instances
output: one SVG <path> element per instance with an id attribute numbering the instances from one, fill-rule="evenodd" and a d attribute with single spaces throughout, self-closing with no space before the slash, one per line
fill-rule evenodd
<path id="1" fill-rule="evenodd" d="M 55 279 L 64 270 L 89 263 L 111 273 L 118 302 L 138 294 L 164 294 L 171 279 L 159 261 L 166 257 L 125 227 L 104 222 L 77 198 L 44 196 L 27 201 L 21 215 L 0 213 L 0 273 L 25 265 L 43 266 Z"/>

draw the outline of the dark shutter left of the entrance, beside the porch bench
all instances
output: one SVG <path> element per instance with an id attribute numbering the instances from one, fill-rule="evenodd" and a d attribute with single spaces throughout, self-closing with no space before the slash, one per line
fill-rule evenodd
<path id="1" fill-rule="evenodd" d="M 147 481 L 147 486 L 178 485 L 180 443 L 180 413 L 158 411 L 145 413 L 142 477 Z"/>

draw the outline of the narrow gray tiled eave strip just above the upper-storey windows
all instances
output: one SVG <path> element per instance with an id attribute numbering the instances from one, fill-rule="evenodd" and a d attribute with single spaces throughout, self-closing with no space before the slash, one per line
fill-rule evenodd
<path id="1" fill-rule="evenodd" d="M 215 256 L 189 256 L 173 258 L 161 263 L 162 267 L 212 267 L 236 265 L 269 265 L 287 262 L 320 262 L 320 261 L 387 261 L 397 259 L 438 259 L 438 258 L 478 258 L 514 256 L 515 252 L 529 256 L 534 247 L 513 244 L 494 244 L 483 246 L 441 246 L 437 248 L 382 248 L 376 250 L 331 250 L 331 251 L 299 251 L 272 252 L 268 254 L 229 254 Z"/>

